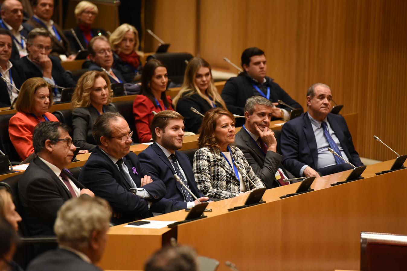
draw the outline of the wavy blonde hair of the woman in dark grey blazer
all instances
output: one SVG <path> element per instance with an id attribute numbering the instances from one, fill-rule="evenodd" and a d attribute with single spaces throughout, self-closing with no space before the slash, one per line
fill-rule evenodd
<path id="1" fill-rule="evenodd" d="M 106 73 L 102 71 L 87 71 L 78 80 L 78 84 L 72 94 L 72 108 L 88 107 L 90 105 L 90 92 L 95 84 L 95 80 L 102 77 L 109 89 L 107 105 L 112 102 L 113 90 L 110 87 L 110 80 Z"/>

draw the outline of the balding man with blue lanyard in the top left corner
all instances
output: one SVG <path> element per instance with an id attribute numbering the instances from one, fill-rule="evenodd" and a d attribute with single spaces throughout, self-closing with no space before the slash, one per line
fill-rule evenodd
<path id="1" fill-rule="evenodd" d="M 11 59 L 15 60 L 28 54 L 26 38 L 28 32 L 33 29 L 32 26 L 23 23 L 23 12 L 23 6 L 18 0 L 6 0 L 1 5 L 0 26 L 9 30 L 13 35 Z"/>

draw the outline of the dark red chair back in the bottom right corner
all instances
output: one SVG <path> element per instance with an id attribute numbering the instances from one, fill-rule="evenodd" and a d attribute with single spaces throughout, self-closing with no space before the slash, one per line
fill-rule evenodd
<path id="1" fill-rule="evenodd" d="M 361 232 L 360 270 L 406 270 L 407 235 Z"/>

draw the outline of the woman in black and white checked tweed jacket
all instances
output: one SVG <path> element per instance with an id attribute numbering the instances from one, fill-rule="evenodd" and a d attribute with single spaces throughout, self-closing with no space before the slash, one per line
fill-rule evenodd
<path id="1" fill-rule="evenodd" d="M 232 198 L 250 193 L 255 188 L 246 176 L 241 176 L 233 161 L 236 161 L 258 188 L 265 187 L 254 174 L 242 151 L 231 146 L 234 143 L 234 123 L 234 116 L 223 108 L 207 111 L 202 120 L 193 172 L 199 190 L 209 198 Z"/>

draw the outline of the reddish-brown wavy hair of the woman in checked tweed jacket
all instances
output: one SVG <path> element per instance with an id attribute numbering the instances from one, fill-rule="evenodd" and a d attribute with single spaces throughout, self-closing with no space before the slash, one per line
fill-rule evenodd
<path id="1" fill-rule="evenodd" d="M 236 124 L 236 119 L 228 110 L 223 108 L 212 108 L 206 111 L 202 125 L 199 128 L 198 148 L 207 147 L 212 152 L 219 152 L 221 150 L 217 140 L 215 139 L 216 122 L 221 116 L 228 116 L 233 123 Z"/>

